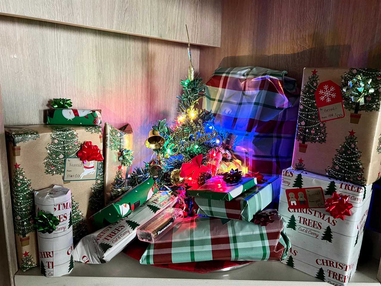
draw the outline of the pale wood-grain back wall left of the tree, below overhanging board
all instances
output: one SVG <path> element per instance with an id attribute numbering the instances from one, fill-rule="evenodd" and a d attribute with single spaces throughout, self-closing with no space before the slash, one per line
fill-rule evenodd
<path id="1" fill-rule="evenodd" d="M 75 108 L 102 109 L 104 122 L 130 123 L 134 166 L 150 160 L 152 124 L 176 117 L 186 44 L 8 16 L 0 39 L 5 125 L 42 124 L 51 98 L 71 98 Z M 192 58 L 198 70 L 197 46 Z"/>

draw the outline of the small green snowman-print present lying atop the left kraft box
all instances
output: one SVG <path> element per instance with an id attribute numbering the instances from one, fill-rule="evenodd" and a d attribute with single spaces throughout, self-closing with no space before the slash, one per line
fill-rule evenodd
<path id="1" fill-rule="evenodd" d="M 48 109 L 47 124 L 99 125 L 101 109 Z"/>

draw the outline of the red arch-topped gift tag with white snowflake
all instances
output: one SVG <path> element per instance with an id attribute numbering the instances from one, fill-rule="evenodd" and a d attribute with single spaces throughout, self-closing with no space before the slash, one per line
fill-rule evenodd
<path id="1" fill-rule="evenodd" d="M 320 121 L 330 121 L 345 116 L 340 87 L 332 80 L 321 82 L 318 85 L 315 100 Z"/>

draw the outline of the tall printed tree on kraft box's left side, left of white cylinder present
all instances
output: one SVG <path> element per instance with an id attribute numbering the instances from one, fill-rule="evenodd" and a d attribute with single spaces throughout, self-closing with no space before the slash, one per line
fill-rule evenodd
<path id="1" fill-rule="evenodd" d="M 34 189 L 30 187 L 31 183 L 16 163 L 12 177 L 13 222 L 14 232 L 22 237 L 34 231 Z"/>

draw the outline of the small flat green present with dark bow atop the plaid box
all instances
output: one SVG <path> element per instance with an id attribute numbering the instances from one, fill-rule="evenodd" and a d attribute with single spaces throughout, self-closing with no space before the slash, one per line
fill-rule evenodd
<path id="1" fill-rule="evenodd" d="M 242 177 L 237 183 L 227 183 L 222 175 L 208 179 L 205 184 L 187 190 L 187 195 L 207 199 L 231 201 L 257 183 L 256 178 Z"/>

